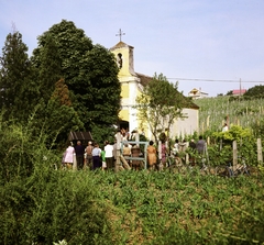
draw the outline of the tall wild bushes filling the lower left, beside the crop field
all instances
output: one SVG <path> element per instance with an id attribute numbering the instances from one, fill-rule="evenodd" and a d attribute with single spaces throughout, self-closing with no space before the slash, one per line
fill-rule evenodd
<path id="1" fill-rule="evenodd" d="M 55 170 L 61 154 L 46 148 L 46 136 L 1 123 L 1 244 L 112 244 L 110 220 L 98 201 L 96 176 Z"/>

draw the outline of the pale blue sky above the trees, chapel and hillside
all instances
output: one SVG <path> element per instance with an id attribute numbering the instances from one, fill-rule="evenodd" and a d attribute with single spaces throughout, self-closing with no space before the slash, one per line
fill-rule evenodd
<path id="1" fill-rule="evenodd" d="M 121 30 L 134 70 L 163 74 L 185 96 L 264 85 L 264 0 L 0 0 L 0 47 L 15 26 L 31 56 L 62 20 L 106 48 Z"/>

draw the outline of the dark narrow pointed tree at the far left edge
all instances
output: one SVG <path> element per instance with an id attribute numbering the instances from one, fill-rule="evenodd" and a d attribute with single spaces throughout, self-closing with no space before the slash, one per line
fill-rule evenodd
<path id="1" fill-rule="evenodd" d="M 37 83 L 32 78 L 28 46 L 22 34 L 8 34 L 0 57 L 0 108 L 4 119 L 26 120 L 35 105 Z"/>

